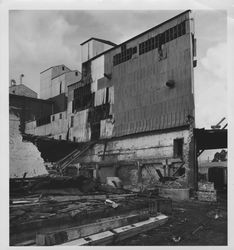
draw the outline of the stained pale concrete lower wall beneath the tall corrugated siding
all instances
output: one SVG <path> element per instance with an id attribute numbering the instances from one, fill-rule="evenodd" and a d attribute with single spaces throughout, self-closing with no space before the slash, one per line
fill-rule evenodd
<path id="1" fill-rule="evenodd" d="M 183 160 L 174 158 L 174 139 L 184 139 Z M 194 164 L 189 158 L 191 147 L 191 131 L 189 129 L 172 131 L 167 133 L 152 133 L 150 135 L 135 135 L 122 139 L 112 139 L 105 143 L 97 143 L 90 149 L 80 162 L 93 163 L 113 168 L 117 166 L 117 175 L 126 185 L 158 183 L 159 176 L 156 169 L 160 169 L 162 175 L 171 175 L 181 164 L 185 162 L 185 175 L 180 180 L 182 185 L 193 187 Z M 105 150 L 105 156 L 103 156 Z M 141 165 L 141 177 L 139 178 L 139 166 Z M 112 170 L 110 170 L 112 171 Z M 192 176 L 192 177 L 191 177 Z"/>

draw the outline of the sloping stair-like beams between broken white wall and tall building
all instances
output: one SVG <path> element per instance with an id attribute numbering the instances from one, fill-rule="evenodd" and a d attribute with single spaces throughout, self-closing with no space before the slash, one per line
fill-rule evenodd
<path id="1" fill-rule="evenodd" d="M 88 149 L 91 148 L 91 146 L 93 146 L 96 142 L 92 141 L 87 143 L 82 149 L 75 149 L 74 151 L 72 151 L 70 154 L 66 155 L 64 158 L 62 158 L 61 160 L 57 161 L 55 163 L 55 168 L 58 172 L 60 172 L 61 174 L 64 172 L 64 170 L 66 169 L 66 167 L 68 167 L 70 164 L 72 164 L 74 161 L 77 161 L 78 158 Z"/>

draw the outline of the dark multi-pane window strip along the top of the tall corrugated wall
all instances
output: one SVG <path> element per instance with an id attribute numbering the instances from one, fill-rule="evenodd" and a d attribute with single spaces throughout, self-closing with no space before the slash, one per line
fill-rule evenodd
<path id="1" fill-rule="evenodd" d="M 142 55 L 153 49 L 161 49 L 161 45 L 170 42 L 182 35 L 186 34 L 185 21 L 175 25 L 174 27 L 154 36 L 139 44 L 139 55 Z M 132 58 L 132 55 L 137 53 L 137 47 L 122 50 L 121 53 L 113 57 L 113 65 L 126 62 Z"/>

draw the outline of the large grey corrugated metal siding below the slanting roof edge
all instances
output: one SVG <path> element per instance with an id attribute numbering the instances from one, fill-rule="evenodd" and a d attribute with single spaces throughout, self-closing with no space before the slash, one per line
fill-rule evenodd
<path id="1" fill-rule="evenodd" d="M 129 42 L 127 48 L 185 19 L 188 13 Z M 110 82 L 115 86 L 115 136 L 186 125 L 186 116 L 194 115 L 191 33 L 186 25 L 185 35 L 163 45 L 165 59 L 154 49 L 113 67 L 113 56 L 120 48 L 105 55 L 105 72 L 112 74 Z M 175 81 L 175 88 L 166 86 L 168 80 Z"/>

